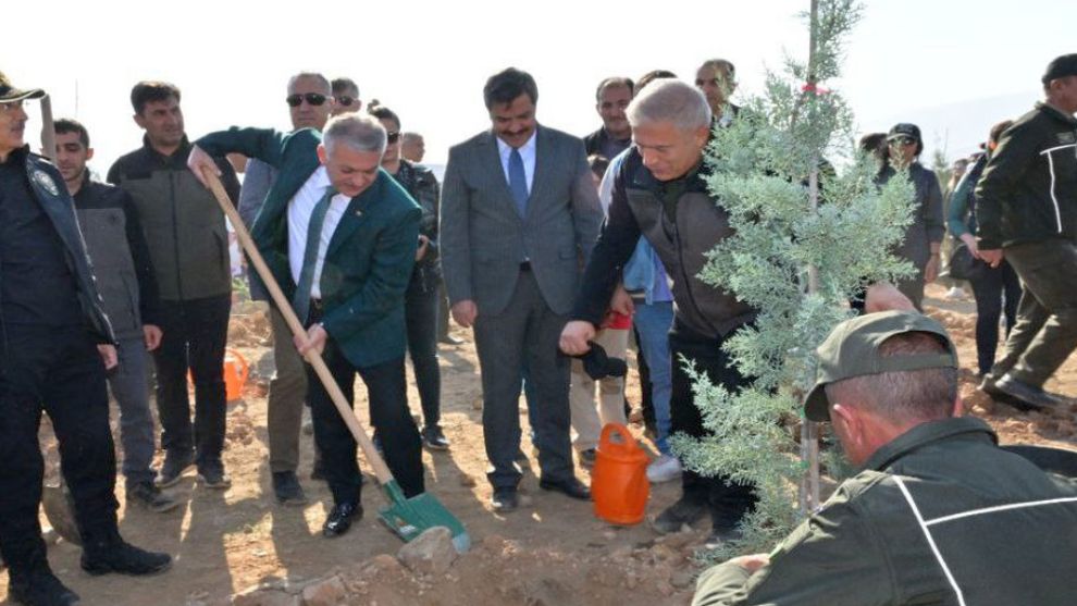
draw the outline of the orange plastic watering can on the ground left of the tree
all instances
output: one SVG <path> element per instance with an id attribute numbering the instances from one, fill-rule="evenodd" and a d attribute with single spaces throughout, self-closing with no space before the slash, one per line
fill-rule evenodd
<path id="1" fill-rule="evenodd" d="M 614 440 L 614 436 L 619 438 Z M 622 525 L 637 524 L 651 496 L 647 481 L 647 453 L 620 423 L 602 429 L 595 466 L 591 470 L 591 498 L 595 516 Z"/>

